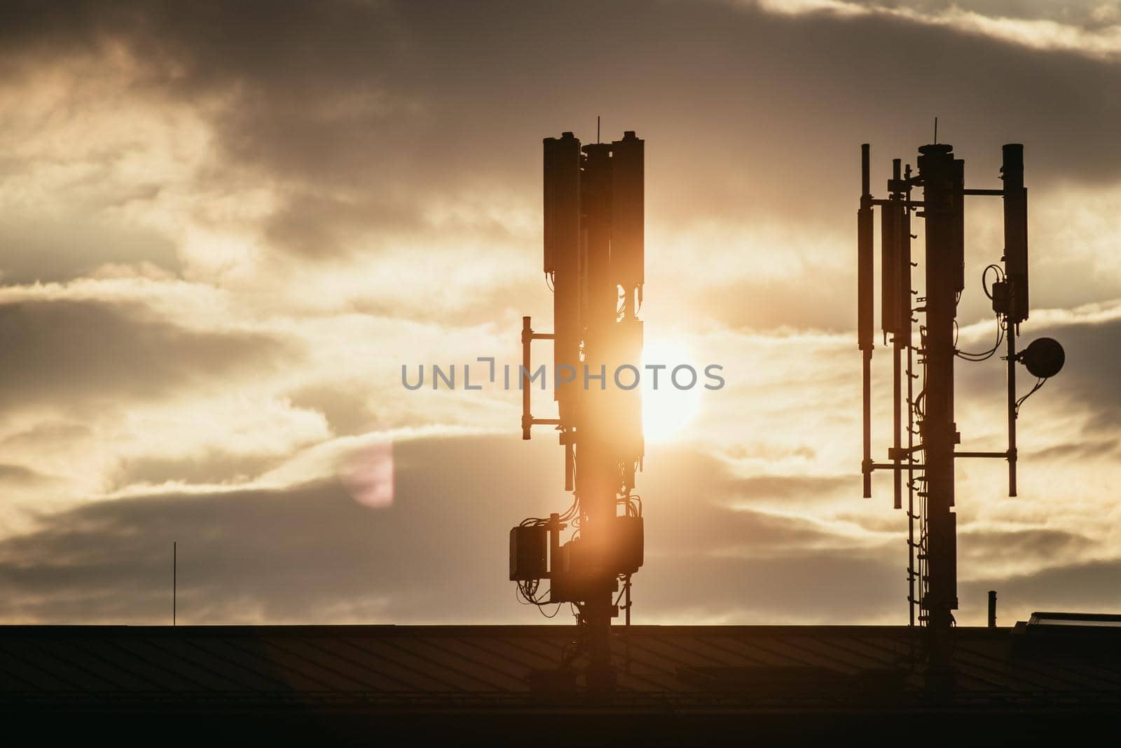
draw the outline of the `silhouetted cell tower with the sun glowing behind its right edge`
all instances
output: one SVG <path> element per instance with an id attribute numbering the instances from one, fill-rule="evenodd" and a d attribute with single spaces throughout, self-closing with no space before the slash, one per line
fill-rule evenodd
<path id="1" fill-rule="evenodd" d="M 645 450 L 641 390 L 611 380 L 620 367 L 637 367 L 642 352 L 636 314 L 643 281 L 645 142 L 632 131 L 610 144 L 581 147 L 572 132 L 544 142 L 554 332 L 535 332 L 522 317 L 521 435 L 528 440 L 536 425 L 555 427 L 564 447 L 564 490 L 574 500 L 563 514 L 510 530 L 510 580 L 528 602 L 575 607 L 572 659 L 586 655 L 586 686 L 610 690 L 611 619 L 626 598 L 630 624 L 631 574 L 642 565 L 642 505 L 634 493 Z M 535 340 L 553 341 L 555 418 L 530 413 Z M 562 543 L 566 529 L 573 533 Z M 539 590 L 541 580 L 547 591 Z"/>

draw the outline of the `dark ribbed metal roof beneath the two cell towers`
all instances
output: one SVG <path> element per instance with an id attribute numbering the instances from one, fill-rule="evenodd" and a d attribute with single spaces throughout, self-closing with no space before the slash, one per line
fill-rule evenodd
<path id="1" fill-rule="evenodd" d="M 955 629 L 955 703 L 1121 704 L 1119 631 L 1046 628 Z M 615 631 L 612 709 L 906 710 L 928 703 L 921 629 Z M 582 701 L 578 684 L 565 687 L 572 682 L 562 663 L 575 653 L 575 632 L 574 626 L 0 627 L 0 700 L 9 708 L 602 708 Z"/>

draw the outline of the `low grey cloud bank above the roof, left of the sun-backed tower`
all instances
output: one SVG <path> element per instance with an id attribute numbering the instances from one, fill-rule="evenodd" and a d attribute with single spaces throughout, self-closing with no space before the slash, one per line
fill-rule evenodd
<path id="1" fill-rule="evenodd" d="M 398 445 L 396 500 L 379 510 L 324 479 L 285 490 L 154 493 L 44 516 L 35 532 L 0 542 L 6 612 L 9 620 L 163 620 L 178 541 L 182 620 L 369 622 L 363 616 L 381 600 L 377 620 L 512 618 L 501 527 L 521 511 L 510 489 L 540 461 L 532 450 L 493 447 Z M 507 481 L 474 468 L 484 455 Z"/>

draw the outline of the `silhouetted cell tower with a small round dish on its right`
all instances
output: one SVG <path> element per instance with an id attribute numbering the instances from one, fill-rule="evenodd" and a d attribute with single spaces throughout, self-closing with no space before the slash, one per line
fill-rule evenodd
<path id="1" fill-rule="evenodd" d="M 957 458 L 995 458 L 1008 461 L 1008 495 L 1016 496 L 1016 419 L 1020 404 L 1063 367 L 1063 347 L 1041 338 L 1022 352 L 1016 341 L 1028 318 L 1028 202 L 1023 187 L 1023 146 L 1003 147 L 1000 190 L 967 190 L 965 161 L 953 147 L 932 144 L 918 149 L 918 174 L 900 159 L 892 161 L 888 198 L 872 197 L 869 187 L 869 146 L 862 146 L 861 197 L 858 212 L 858 339 L 863 354 L 864 497 L 872 495 L 872 472 L 893 473 L 895 507 L 902 508 L 904 474 L 909 518 L 910 622 L 930 629 L 928 656 L 932 675 L 948 678 L 952 640 L 948 631 L 957 609 L 957 545 L 954 514 L 954 462 Z M 923 200 L 911 192 L 921 187 Z M 997 316 L 997 342 L 986 351 L 967 353 L 957 348 L 957 303 L 965 288 L 966 196 L 1003 198 L 1004 253 L 1002 265 L 989 265 L 981 277 Z M 892 444 L 887 462 L 872 460 L 871 359 L 873 348 L 873 207 L 881 210 L 881 327 L 890 339 L 892 355 Z M 911 214 L 925 219 L 925 296 L 911 288 Z M 988 284 L 988 279 L 992 283 Z M 925 324 L 915 324 L 924 315 Z M 954 362 L 982 361 L 1007 345 L 1008 450 L 961 451 L 954 422 Z M 921 373 L 916 373 L 916 357 Z M 1038 378 L 1023 397 L 1016 395 L 1016 364 Z M 916 389 L 918 390 L 916 393 Z M 906 403 L 906 407 L 905 407 Z M 906 427 L 905 427 L 906 424 Z M 917 438 L 917 441 L 916 441 Z M 917 460 L 917 455 L 921 460 Z M 916 501 L 917 499 L 917 501 Z M 916 585 L 918 589 L 916 590 Z M 916 615 L 917 613 L 917 615 Z"/>

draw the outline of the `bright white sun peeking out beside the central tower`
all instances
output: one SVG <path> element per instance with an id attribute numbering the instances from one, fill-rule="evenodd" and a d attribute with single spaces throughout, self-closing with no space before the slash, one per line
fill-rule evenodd
<path id="1" fill-rule="evenodd" d="M 666 367 L 657 370 L 657 389 L 655 372 L 646 368 L 656 364 Z M 693 367 L 697 376 L 694 380 L 688 370 L 680 369 L 677 384 L 686 387 L 692 382 L 692 387 L 679 389 L 674 386 L 671 376 L 675 367 L 683 364 Z M 697 366 L 684 347 L 660 340 L 646 342 L 642 347 L 642 435 L 646 441 L 666 442 L 684 431 L 701 408 L 703 377 L 703 367 Z"/>

